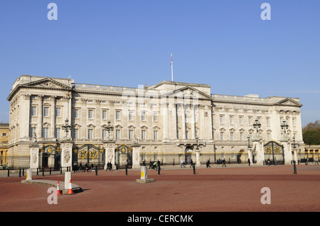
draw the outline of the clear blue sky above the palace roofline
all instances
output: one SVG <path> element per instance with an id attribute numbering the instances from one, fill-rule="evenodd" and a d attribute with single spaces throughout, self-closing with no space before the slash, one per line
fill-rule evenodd
<path id="1" fill-rule="evenodd" d="M 51 2 L 58 20 L 49 21 Z M 262 21 L 262 3 L 271 20 Z M 1 0 L 0 122 L 21 74 L 138 87 L 171 80 L 212 94 L 300 98 L 320 120 L 319 0 Z"/>

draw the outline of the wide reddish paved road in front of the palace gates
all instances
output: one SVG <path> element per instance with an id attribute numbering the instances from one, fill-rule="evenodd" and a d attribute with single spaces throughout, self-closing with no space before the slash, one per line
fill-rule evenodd
<path id="1" fill-rule="evenodd" d="M 72 181 L 84 191 L 58 196 L 48 204 L 49 186 L 24 184 L 26 178 L 0 178 L 0 211 L 16 212 L 228 212 L 320 210 L 320 166 L 241 166 L 210 169 L 148 170 L 154 183 L 136 183 L 140 171 L 73 173 Z M 227 165 L 228 166 L 228 165 Z M 177 166 L 178 167 L 178 166 Z M 64 181 L 64 175 L 33 176 Z M 263 205 L 261 189 L 270 188 L 271 204 Z"/>

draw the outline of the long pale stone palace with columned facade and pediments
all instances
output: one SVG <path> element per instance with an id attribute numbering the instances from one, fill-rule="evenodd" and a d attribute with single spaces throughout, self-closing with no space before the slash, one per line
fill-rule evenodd
<path id="1" fill-rule="evenodd" d="M 22 75 L 7 100 L 14 166 L 292 164 L 304 156 L 299 98 L 211 94 L 208 84 L 176 81 L 133 88 Z"/>

